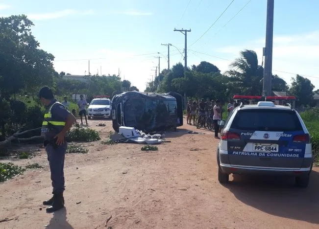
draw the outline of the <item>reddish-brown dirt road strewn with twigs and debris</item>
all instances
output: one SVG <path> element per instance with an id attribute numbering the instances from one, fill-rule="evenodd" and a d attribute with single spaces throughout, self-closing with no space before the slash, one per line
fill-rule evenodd
<path id="1" fill-rule="evenodd" d="M 96 127 L 100 122 L 107 126 Z M 92 120 L 89 125 L 101 137 L 112 130 L 110 120 Z M 268 177 L 231 176 L 223 186 L 217 180 L 213 133 L 188 134 L 187 130 L 197 131 L 184 125 L 167 133 L 172 142 L 158 145 L 157 152 L 141 151 L 138 144 L 93 142 L 85 144 L 89 154 L 68 154 L 66 208 L 53 214 L 42 206 L 51 195 L 45 151 L 30 160 L 14 161 L 38 162 L 44 168 L 27 170 L 0 184 L 0 220 L 10 220 L 0 223 L 0 228 L 319 228 L 318 168 L 307 189 L 295 188 L 294 179 Z"/>

